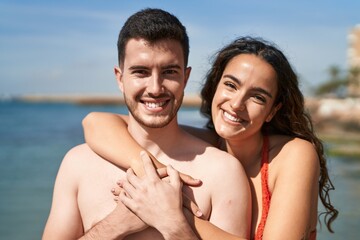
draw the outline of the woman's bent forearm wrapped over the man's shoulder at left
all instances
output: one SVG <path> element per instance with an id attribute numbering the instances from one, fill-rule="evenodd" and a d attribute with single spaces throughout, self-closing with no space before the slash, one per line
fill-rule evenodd
<path id="1" fill-rule="evenodd" d="M 143 149 L 127 130 L 127 116 L 92 112 L 83 119 L 85 141 L 102 158 L 121 168 L 132 168 L 138 176 L 144 174 L 139 158 Z M 149 152 L 156 168 L 164 167 Z"/>

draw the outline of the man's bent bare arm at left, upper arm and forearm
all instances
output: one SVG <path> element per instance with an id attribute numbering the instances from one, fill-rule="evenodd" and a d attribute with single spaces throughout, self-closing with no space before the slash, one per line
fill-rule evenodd
<path id="1" fill-rule="evenodd" d="M 145 223 L 123 204 L 118 204 L 107 217 L 84 235 L 77 201 L 81 173 L 87 171 L 84 169 L 84 161 L 87 159 L 83 156 L 81 147 L 73 148 L 63 159 L 56 177 L 53 202 L 43 239 L 119 239 L 145 229 Z"/>

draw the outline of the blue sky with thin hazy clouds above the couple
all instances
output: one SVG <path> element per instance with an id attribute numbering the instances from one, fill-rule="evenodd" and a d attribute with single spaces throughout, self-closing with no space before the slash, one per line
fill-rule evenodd
<path id="1" fill-rule="evenodd" d="M 360 24 L 354 0 L 0 0 L 0 97 L 120 94 L 118 33 L 146 7 L 173 13 L 187 28 L 188 94 L 201 89 L 216 51 L 239 36 L 275 43 L 311 94 L 330 66 L 347 69 L 347 35 Z"/>

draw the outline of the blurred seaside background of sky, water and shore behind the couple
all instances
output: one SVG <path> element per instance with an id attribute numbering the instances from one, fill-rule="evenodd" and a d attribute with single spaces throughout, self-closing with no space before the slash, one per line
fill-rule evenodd
<path id="1" fill-rule="evenodd" d="M 326 144 L 340 210 L 335 234 L 360 230 L 360 2 L 0 0 L 0 238 L 39 239 L 64 154 L 91 111 L 125 113 L 113 75 L 116 41 L 134 12 L 175 14 L 190 38 L 192 74 L 180 122 L 202 126 L 198 93 L 211 57 L 235 37 L 274 42 L 296 69 Z"/>

